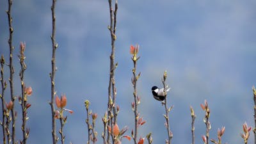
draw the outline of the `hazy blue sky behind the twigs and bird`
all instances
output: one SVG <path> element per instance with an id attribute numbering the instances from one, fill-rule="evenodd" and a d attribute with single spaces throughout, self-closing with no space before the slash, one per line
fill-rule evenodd
<path id="1" fill-rule="evenodd" d="M 252 86 L 256 83 L 255 1 L 118 1 L 116 29 L 117 103 L 119 126 L 133 126 L 132 61 L 129 46 L 140 44 L 138 93 L 140 115 L 147 120 L 140 136 L 152 132 L 154 143 L 164 143 L 164 108 L 150 88 L 161 86 L 164 70 L 172 88 L 168 104 L 173 143 L 191 143 L 189 106 L 196 113 L 196 143 L 205 132 L 204 111 L 209 101 L 211 138 L 225 125 L 223 142 L 242 143 L 246 121 L 253 125 Z M 0 53 L 8 60 L 6 1 L 0 2 Z M 50 100 L 51 1 L 13 1 L 13 45 L 26 42 L 26 84 L 33 87 L 28 126 L 29 143 L 51 143 Z M 86 143 L 83 102 L 91 101 L 98 113 L 97 131 L 102 141 L 101 116 L 108 98 L 110 36 L 108 1 L 57 1 L 56 91 L 67 95 L 67 108 L 74 110 L 65 125 L 66 142 Z M 20 93 L 19 62 L 15 58 L 15 95 Z M 8 68 L 5 68 L 8 79 Z M 6 93 L 8 97 L 8 92 Z M 7 98 L 8 99 L 8 98 Z M 17 102 L 16 109 L 20 109 Z M 19 110 L 18 110 L 19 111 Z M 18 121 L 18 124 L 20 122 Z M 17 133 L 20 133 L 17 129 Z M 251 133 L 251 136 L 253 134 Z M 0 136 L 1 138 L 1 136 Z M 20 139 L 21 135 L 18 134 Z M 132 142 L 132 141 L 131 141 Z M 124 143 L 128 143 L 124 140 Z M 252 143 L 252 138 L 250 139 Z"/>

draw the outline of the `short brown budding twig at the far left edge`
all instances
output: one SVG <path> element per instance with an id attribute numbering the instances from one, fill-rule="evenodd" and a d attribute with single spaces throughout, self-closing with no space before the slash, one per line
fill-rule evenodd
<path id="1" fill-rule="evenodd" d="M 6 115 L 6 111 L 5 111 L 5 108 L 4 108 L 4 104 L 5 104 L 5 100 L 4 100 L 4 90 L 6 89 L 6 81 L 4 81 L 4 63 L 5 63 L 5 60 L 4 60 L 4 56 L 1 55 L 1 88 L 2 88 L 2 93 L 0 95 L 1 97 L 1 102 L 2 102 L 2 122 L 1 122 L 1 125 L 2 125 L 2 128 L 3 128 L 3 144 L 6 144 L 6 132 L 5 132 L 5 129 L 6 129 L 6 124 L 5 124 L 5 115 Z"/>

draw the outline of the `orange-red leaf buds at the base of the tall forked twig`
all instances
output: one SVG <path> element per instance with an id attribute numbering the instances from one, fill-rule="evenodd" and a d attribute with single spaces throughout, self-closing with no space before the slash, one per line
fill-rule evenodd
<path id="1" fill-rule="evenodd" d="M 122 138 L 127 138 L 127 140 L 131 140 L 131 137 L 128 135 L 124 135 L 124 133 L 127 131 L 128 127 L 124 127 L 123 129 L 121 129 L 121 131 L 119 130 L 119 127 L 117 124 L 113 125 L 113 127 L 110 127 L 108 125 L 108 131 L 109 133 L 111 133 L 111 135 L 114 137 L 114 144 L 121 144 L 122 143 Z M 140 143 L 143 144 L 143 143 Z"/>

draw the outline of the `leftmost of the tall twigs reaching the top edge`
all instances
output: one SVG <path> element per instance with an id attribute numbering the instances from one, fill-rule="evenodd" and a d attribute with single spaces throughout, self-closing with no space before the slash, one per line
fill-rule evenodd
<path id="1" fill-rule="evenodd" d="M 13 45 L 12 45 L 12 36 L 13 36 L 13 28 L 12 28 L 12 0 L 8 0 L 8 10 L 6 11 L 7 15 L 8 15 L 8 24 L 9 24 L 9 40 L 8 40 L 8 44 L 9 44 L 9 48 L 10 48 L 10 63 L 9 63 L 9 67 L 10 67 L 10 93 L 11 93 L 11 99 L 13 102 L 13 107 L 11 109 L 12 111 L 12 143 L 15 144 L 15 120 L 16 120 L 16 112 L 14 110 L 14 90 L 13 90 L 13 74 L 14 74 L 14 67 L 13 67 L 13 62 L 12 62 L 12 56 L 13 56 Z"/>

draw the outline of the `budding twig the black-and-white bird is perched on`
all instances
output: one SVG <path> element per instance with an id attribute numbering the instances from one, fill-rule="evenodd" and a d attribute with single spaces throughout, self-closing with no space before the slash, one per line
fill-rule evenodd
<path id="1" fill-rule="evenodd" d="M 173 107 L 167 108 L 167 100 L 166 100 L 167 93 L 166 93 L 166 83 L 165 83 L 166 77 L 167 77 L 167 72 L 164 71 L 164 76 L 163 76 L 163 79 L 162 79 L 162 83 L 163 83 L 163 86 L 164 86 L 164 95 L 165 95 L 164 108 L 165 108 L 165 113 L 166 114 L 164 115 L 164 118 L 166 120 L 165 126 L 166 126 L 167 133 L 168 133 L 168 140 L 166 140 L 166 143 L 171 144 L 172 143 L 173 134 L 172 134 L 172 131 L 170 130 L 169 112 L 172 110 Z"/>

